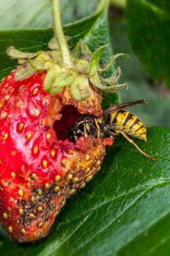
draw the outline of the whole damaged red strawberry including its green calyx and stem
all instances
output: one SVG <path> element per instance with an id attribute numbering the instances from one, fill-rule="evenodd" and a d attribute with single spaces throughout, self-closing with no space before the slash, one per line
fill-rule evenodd
<path id="1" fill-rule="evenodd" d="M 55 19 L 57 40 L 49 42 L 49 51 L 8 49 L 21 65 L 0 85 L 0 220 L 17 242 L 48 234 L 67 198 L 99 171 L 105 147 L 113 144 L 111 137 L 81 137 L 74 144 L 67 139 L 80 115 L 102 116 L 101 90 L 122 85 L 116 85 L 119 72 L 110 80 L 98 75 L 106 46 L 92 55 L 79 42 L 70 55 Z"/>

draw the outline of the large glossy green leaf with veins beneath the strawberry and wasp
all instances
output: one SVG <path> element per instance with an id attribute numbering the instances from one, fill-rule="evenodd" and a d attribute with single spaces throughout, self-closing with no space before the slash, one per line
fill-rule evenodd
<path id="1" fill-rule="evenodd" d="M 1 256 L 168 256 L 170 130 L 149 128 L 148 141 L 137 144 L 156 161 L 117 139 L 99 174 L 67 202 L 48 237 L 28 245 L 4 239 Z"/>

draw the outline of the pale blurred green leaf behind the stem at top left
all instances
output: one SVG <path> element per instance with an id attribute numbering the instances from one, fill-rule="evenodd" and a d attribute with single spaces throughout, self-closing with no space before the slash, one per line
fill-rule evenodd
<path id="1" fill-rule="evenodd" d="M 60 2 L 64 24 L 92 14 L 98 4 L 98 0 L 62 0 Z M 0 6 L 0 29 L 52 27 L 49 0 L 0 0 Z"/>

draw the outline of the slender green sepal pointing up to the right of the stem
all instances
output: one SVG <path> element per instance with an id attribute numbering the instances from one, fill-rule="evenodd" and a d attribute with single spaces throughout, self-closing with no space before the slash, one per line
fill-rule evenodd
<path id="1" fill-rule="evenodd" d="M 98 71 L 99 61 L 101 60 L 103 51 L 106 49 L 107 45 L 102 46 L 97 51 L 95 51 L 91 58 L 90 68 L 89 68 L 89 76 L 92 77 L 96 75 Z"/>

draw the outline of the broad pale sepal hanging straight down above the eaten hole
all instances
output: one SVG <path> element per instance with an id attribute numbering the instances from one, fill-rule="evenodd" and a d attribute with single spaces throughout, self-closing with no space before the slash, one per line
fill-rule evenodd
<path id="1" fill-rule="evenodd" d="M 88 78 L 77 76 L 71 85 L 71 92 L 75 100 L 86 100 L 90 95 Z"/>

